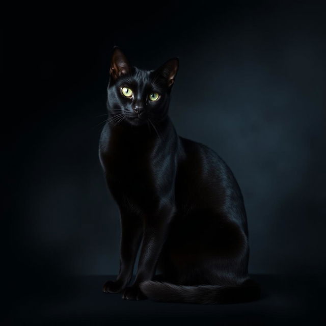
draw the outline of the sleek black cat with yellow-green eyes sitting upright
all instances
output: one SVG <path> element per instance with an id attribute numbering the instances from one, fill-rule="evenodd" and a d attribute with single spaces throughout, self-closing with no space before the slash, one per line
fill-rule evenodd
<path id="1" fill-rule="evenodd" d="M 178 66 L 174 58 L 140 70 L 114 49 L 99 153 L 120 209 L 121 258 L 117 280 L 103 291 L 128 300 L 256 300 L 239 186 L 213 150 L 179 137 L 168 116 Z M 137 276 L 127 286 L 140 244 Z"/>

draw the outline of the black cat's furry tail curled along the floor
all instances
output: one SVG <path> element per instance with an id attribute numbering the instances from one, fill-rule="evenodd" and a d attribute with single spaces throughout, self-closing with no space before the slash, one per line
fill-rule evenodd
<path id="1" fill-rule="evenodd" d="M 260 297 L 260 287 L 251 279 L 238 286 L 188 286 L 146 281 L 140 284 L 140 288 L 148 298 L 162 302 L 231 304 L 254 301 Z"/>

